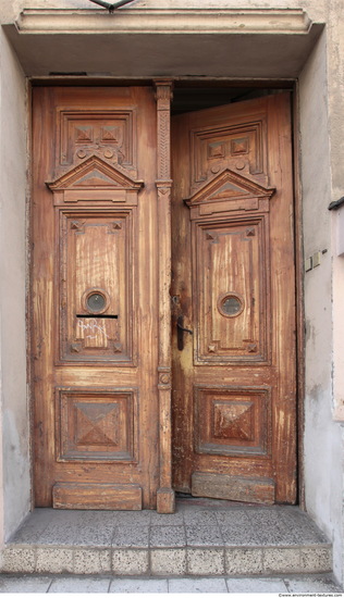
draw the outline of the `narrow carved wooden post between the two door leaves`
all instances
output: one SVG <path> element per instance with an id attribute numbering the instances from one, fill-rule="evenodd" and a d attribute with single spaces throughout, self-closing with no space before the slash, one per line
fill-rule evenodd
<path id="1" fill-rule="evenodd" d="M 171 423 L 171 100 L 172 82 L 156 80 L 157 99 L 157 189 L 159 248 L 159 513 L 173 513 L 172 423 Z"/>

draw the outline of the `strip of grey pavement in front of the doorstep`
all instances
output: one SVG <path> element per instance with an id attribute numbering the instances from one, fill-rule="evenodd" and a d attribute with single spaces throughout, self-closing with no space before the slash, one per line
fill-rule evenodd
<path id="1" fill-rule="evenodd" d="M 113 577 L 0 575 L 0 593 L 32 594 L 342 594 L 330 575 L 281 577 Z"/>

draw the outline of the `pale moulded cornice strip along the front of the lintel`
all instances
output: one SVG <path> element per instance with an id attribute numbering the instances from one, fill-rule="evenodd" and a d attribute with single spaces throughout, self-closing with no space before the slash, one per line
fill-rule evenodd
<path id="1" fill-rule="evenodd" d="M 307 13 L 292 9 L 25 9 L 15 22 L 21 34 L 269 34 L 307 35 Z"/>

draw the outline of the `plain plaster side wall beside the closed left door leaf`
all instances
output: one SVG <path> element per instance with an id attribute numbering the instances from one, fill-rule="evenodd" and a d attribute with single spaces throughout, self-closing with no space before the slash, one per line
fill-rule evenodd
<path id="1" fill-rule="evenodd" d="M 29 510 L 29 426 L 26 388 L 26 87 L 0 32 L 0 322 L 2 539 Z M 1 512 L 2 511 L 2 512 Z M 3 514 L 4 513 L 4 514 Z"/>

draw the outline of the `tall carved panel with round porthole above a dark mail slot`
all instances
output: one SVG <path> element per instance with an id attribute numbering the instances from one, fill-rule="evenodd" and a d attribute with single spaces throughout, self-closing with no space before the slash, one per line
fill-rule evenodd
<path id="1" fill-rule="evenodd" d="M 133 363 L 132 211 L 60 211 L 60 358 Z"/>

